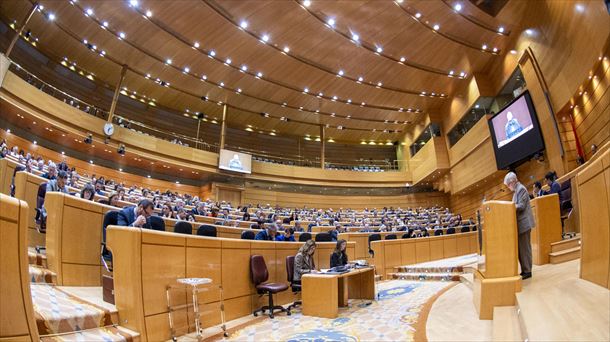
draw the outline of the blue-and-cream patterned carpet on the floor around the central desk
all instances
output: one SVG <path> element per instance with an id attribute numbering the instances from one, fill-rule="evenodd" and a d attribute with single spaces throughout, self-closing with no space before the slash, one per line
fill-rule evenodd
<path id="1" fill-rule="evenodd" d="M 379 300 L 366 305 L 350 300 L 336 319 L 279 314 L 231 334 L 231 341 L 413 341 L 417 329 L 425 334 L 425 304 L 455 283 L 390 280 L 378 283 Z M 427 315 L 427 313 L 426 313 Z M 425 336 L 425 335 L 424 335 Z"/>

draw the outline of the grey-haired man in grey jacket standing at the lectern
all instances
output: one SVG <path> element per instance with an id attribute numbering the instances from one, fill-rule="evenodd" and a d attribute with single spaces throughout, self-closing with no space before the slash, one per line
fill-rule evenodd
<path id="1" fill-rule="evenodd" d="M 504 185 L 514 192 L 513 203 L 517 209 L 517 231 L 519 233 L 519 263 L 521 264 L 521 278 L 532 277 L 532 245 L 530 232 L 534 226 L 534 215 L 530 206 L 530 196 L 527 189 L 517 179 L 514 172 L 504 177 Z"/>

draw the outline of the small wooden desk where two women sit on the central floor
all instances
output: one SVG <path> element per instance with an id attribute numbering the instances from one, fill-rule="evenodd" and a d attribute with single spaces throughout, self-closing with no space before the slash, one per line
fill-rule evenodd
<path id="1" fill-rule="evenodd" d="M 301 278 L 303 315 L 336 318 L 349 298 L 375 299 L 375 269 L 354 269 L 343 274 L 305 274 Z"/>

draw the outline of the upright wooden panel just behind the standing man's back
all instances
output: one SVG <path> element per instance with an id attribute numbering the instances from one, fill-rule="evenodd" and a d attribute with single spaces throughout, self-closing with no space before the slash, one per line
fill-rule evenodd
<path id="1" fill-rule="evenodd" d="M 532 260 L 534 265 L 549 263 L 551 243 L 561 241 L 561 213 L 557 194 L 536 197 L 530 202 L 534 214 Z"/>

